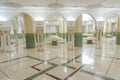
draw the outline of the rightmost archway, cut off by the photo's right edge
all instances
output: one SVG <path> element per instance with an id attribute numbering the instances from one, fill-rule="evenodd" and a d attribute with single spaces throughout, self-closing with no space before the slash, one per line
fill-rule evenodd
<path id="1" fill-rule="evenodd" d="M 114 40 L 117 44 L 119 43 L 119 40 L 117 40 L 119 37 L 117 36 L 118 19 L 119 17 L 116 14 L 112 14 L 106 19 L 103 29 L 104 39 Z"/>

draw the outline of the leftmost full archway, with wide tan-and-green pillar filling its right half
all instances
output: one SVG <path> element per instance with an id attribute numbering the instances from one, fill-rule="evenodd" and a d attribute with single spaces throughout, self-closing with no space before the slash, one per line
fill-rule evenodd
<path id="1" fill-rule="evenodd" d="M 35 27 L 32 17 L 27 13 L 20 13 L 14 16 L 11 22 L 16 45 L 18 46 L 18 38 L 23 38 L 25 35 L 26 48 L 35 48 Z"/>

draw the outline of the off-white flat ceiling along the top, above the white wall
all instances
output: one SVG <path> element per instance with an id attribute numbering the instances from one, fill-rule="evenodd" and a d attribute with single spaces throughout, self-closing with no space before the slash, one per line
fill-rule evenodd
<path id="1" fill-rule="evenodd" d="M 56 0 L 0 0 L 0 7 L 4 7 L 6 2 L 22 5 L 23 7 L 48 7 Z M 120 0 L 57 0 L 64 7 L 82 8 L 120 8 Z"/>

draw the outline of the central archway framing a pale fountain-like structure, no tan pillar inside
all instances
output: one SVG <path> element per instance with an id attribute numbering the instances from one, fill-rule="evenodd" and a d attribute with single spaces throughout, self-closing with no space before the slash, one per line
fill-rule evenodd
<path id="1" fill-rule="evenodd" d="M 44 39 L 47 41 L 47 43 L 51 44 L 57 44 L 57 42 L 66 42 L 67 26 L 65 18 L 61 14 L 53 13 L 45 19 Z"/>

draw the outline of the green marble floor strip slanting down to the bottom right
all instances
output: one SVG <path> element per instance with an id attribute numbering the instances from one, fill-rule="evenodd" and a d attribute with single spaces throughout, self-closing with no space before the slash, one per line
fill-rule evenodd
<path id="1" fill-rule="evenodd" d="M 100 79 L 103 79 L 103 80 L 115 80 L 115 79 L 112 79 L 112 78 L 109 78 L 109 77 L 102 76 L 102 75 L 97 74 L 97 73 L 89 72 L 87 70 L 80 70 L 80 72 L 83 72 L 83 73 L 86 73 L 86 74 L 89 74 L 89 75 L 92 75 L 92 76 L 96 76 L 96 77 L 98 77 Z"/>

